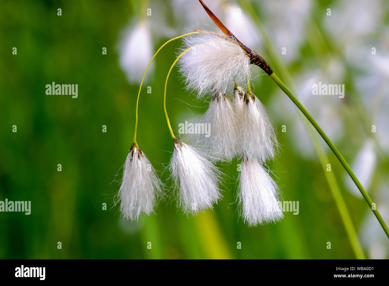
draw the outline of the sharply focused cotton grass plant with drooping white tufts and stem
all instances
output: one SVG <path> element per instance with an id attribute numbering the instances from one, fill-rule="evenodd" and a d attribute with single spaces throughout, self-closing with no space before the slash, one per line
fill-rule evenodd
<path id="1" fill-rule="evenodd" d="M 184 212 L 196 214 L 214 206 L 221 198 L 219 191 L 221 172 L 215 167 L 214 161 L 231 161 L 237 157 L 242 160 L 238 202 L 244 221 L 254 226 L 273 223 L 283 217 L 278 203 L 279 189 L 270 176 L 269 170 L 265 168 L 266 162 L 274 159 L 278 152 L 276 132 L 264 105 L 251 89 L 252 65 L 264 70 L 300 109 L 342 163 L 371 207 L 373 204 L 371 198 L 342 154 L 293 93 L 286 88 L 259 54 L 242 44 L 208 7 L 201 0 L 199 1 L 224 35 L 196 30 L 169 40 L 156 52 L 158 54 L 160 49 L 172 40 L 187 37 L 179 56 L 170 67 L 164 91 L 164 112 L 173 140 L 170 170 L 175 188 L 179 193 L 179 205 Z M 166 111 L 168 77 L 177 62 L 187 89 L 195 91 L 198 99 L 210 98 L 209 109 L 200 122 L 212 123 L 213 129 L 211 126 L 209 138 L 200 138 L 200 144 L 195 146 L 190 146 L 175 137 Z M 123 216 L 130 219 L 138 218 L 140 212 L 150 214 L 161 189 L 161 183 L 154 169 L 151 168 L 151 171 L 145 174 L 143 166 L 145 163 L 149 164 L 149 161 L 139 156 L 142 153 L 136 142 L 137 110 L 142 83 L 143 79 L 137 97 L 135 135 L 132 144 L 135 146 L 134 154 L 138 156 L 135 156 L 135 159 L 130 156 L 133 150 L 131 147 L 124 164 L 123 182 L 119 191 Z M 227 95 L 230 91 L 233 93 L 232 98 Z M 133 163 L 132 160 L 142 161 Z M 389 237 L 389 230 L 380 213 L 377 209 L 372 208 L 372 211 Z"/>

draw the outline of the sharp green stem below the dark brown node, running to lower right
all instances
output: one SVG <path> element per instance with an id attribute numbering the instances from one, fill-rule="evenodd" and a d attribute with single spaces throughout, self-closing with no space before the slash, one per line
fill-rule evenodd
<path id="1" fill-rule="evenodd" d="M 300 111 L 304 114 L 304 116 L 308 119 L 308 121 L 314 126 L 314 128 L 319 132 L 320 136 L 324 139 L 324 141 L 327 143 L 328 147 L 332 150 L 332 152 L 335 154 L 336 158 L 340 161 L 340 163 L 343 165 L 347 173 L 350 175 L 352 181 L 356 184 L 357 188 L 361 192 L 362 196 L 368 203 L 369 207 L 377 217 L 380 225 L 384 229 L 384 232 L 386 233 L 387 237 L 389 238 L 389 229 L 387 225 L 385 224 L 384 219 L 382 218 L 381 214 L 378 212 L 377 208 L 373 208 L 373 201 L 371 200 L 368 193 L 366 193 L 365 189 L 361 185 L 361 183 L 358 181 L 356 175 L 354 172 L 352 172 L 349 164 L 346 162 L 346 160 L 343 158 L 342 154 L 340 154 L 339 150 L 336 149 L 335 145 L 329 140 L 326 133 L 320 128 L 320 126 L 317 124 L 315 119 L 312 118 L 312 116 L 309 114 L 307 109 L 297 100 L 297 98 L 291 93 L 291 91 L 285 86 L 285 84 L 273 73 L 270 75 L 270 77 L 275 81 L 275 83 L 284 91 L 284 93 L 292 100 L 292 102 L 300 109 Z"/>

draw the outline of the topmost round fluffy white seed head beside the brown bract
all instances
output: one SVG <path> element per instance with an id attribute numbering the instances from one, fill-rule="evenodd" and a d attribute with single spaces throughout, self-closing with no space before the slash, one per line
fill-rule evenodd
<path id="1" fill-rule="evenodd" d="M 236 82 L 247 82 L 251 77 L 250 59 L 231 39 L 211 33 L 199 33 L 184 40 L 182 51 L 192 48 L 179 59 L 180 72 L 186 86 L 197 96 L 227 92 Z"/>

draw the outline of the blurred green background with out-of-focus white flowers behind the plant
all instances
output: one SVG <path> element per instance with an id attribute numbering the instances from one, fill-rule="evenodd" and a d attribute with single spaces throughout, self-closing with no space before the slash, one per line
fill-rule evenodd
<path id="1" fill-rule="evenodd" d="M 254 40 L 252 48 L 286 84 L 290 77 L 308 111 L 346 160 L 362 167 L 359 172 L 364 177 L 369 175 L 364 186 L 387 220 L 388 3 L 301 0 L 275 4 L 269 0 L 252 1 L 247 11 L 247 1 L 209 2 L 205 1 L 222 21 L 231 22 L 228 11 L 235 11 L 245 17 L 246 25 L 251 23 L 258 33 L 247 38 Z M 149 8 L 151 16 L 147 16 Z M 166 199 L 154 215 L 139 221 L 121 218 L 114 196 L 133 139 L 139 88 L 133 74 L 143 75 L 144 63 L 166 40 L 198 27 L 207 29 L 204 23 L 211 22 L 196 0 L 1 1 L 0 10 L 0 200 L 32 204 L 29 216 L 0 212 L 0 258 L 356 257 L 297 109 L 258 68 L 253 69 L 258 75 L 254 93 L 272 115 L 282 144 L 279 158 L 269 167 L 277 176 L 283 199 L 299 201 L 299 214 L 285 212 L 275 225 L 245 225 L 238 216 L 239 162 L 234 160 L 221 165 L 226 174 L 224 198 L 213 211 L 187 217 L 173 199 Z M 143 42 L 126 46 L 134 39 L 138 23 L 145 24 L 149 37 L 143 35 Z M 273 49 L 266 45 L 261 25 Z M 246 44 L 245 31 L 233 28 Z M 12 54 L 13 47 L 17 54 Z M 103 47 L 107 54 L 102 53 Z M 156 57 L 138 112 L 138 144 L 163 180 L 170 175 L 166 167 L 173 151 L 163 114 L 163 87 L 179 47 L 180 40 L 172 42 Z M 377 54 L 371 54 L 371 47 L 376 47 Z M 125 60 L 126 53 L 130 62 Z M 134 57 L 139 62 L 131 66 Z M 312 82 L 319 81 L 345 84 L 345 98 L 308 96 Z M 46 84 L 51 82 L 78 84 L 78 98 L 46 95 Z M 206 102 L 197 102 L 185 90 L 177 68 L 173 69 L 167 110 L 175 132 L 179 123 L 206 108 Z M 281 132 L 282 125 L 287 132 Z M 377 126 L 376 133 L 371 132 L 371 125 Z M 368 155 L 360 155 L 365 142 L 373 147 Z M 364 254 L 387 258 L 389 244 L 383 230 L 371 218 L 366 202 L 352 190 L 335 156 L 325 146 L 324 150 Z M 169 188 L 169 197 L 172 193 Z M 62 249 L 57 249 L 57 242 Z"/>

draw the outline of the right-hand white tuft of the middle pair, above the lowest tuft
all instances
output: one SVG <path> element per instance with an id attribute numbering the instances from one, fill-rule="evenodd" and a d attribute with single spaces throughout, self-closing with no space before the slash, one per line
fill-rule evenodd
<path id="1" fill-rule="evenodd" d="M 261 163 L 273 159 L 278 149 L 277 137 L 261 101 L 254 93 L 246 93 L 238 87 L 235 88 L 234 105 L 241 136 L 237 150 Z"/>

